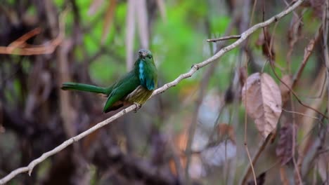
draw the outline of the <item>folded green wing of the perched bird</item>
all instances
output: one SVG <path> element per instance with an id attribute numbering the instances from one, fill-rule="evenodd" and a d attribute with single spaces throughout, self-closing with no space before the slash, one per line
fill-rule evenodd
<path id="1" fill-rule="evenodd" d="M 139 79 L 134 74 L 134 71 L 129 72 L 126 76 L 123 76 L 115 85 L 113 85 L 112 92 L 108 96 L 103 112 L 107 113 L 115 109 L 119 109 L 124 104 L 124 97 L 133 92 L 139 85 Z"/>

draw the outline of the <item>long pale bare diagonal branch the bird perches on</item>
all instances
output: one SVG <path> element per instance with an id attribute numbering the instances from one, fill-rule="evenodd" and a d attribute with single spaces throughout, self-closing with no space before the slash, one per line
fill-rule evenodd
<path id="1" fill-rule="evenodd" d="M 240 46 L 240 44 L 243 43 L 243 41 L 245 41 L 245 39 L 247 39 L 248 36 L 250 36 L 252 33 L 257 31 L 257 29 L 260 29 L 262 27 L 266 27 L 268 25 L 271 25 L 271 23 L 277 22 L 278 20 L 280 20 L 280 18 L 283 18 L 288 13 L 291 13 L 293 10 L 295 10 L 295 8 L 297 8 L 300 4 L 302 4 L 303 1 L 304 0 L 295 1 L 295 4 L 292 4 L 292 6 L 287 8 L 285 11 L 282 11 L 281 13 L 278 13 L 277 15 L 273 16 L 269 20 L 266 20 L 265 22 L 260 22 L 257 25 L 254 25 L 253 27 L 250 27 L 250 29 L 247 29 L 245 32 L 243 32 L 243 34 L 241 34 L 240 39 L 238 39 L 237 41 L 235 41 L 231 45 L 226 46 L 225 48 L 222 48 L 221 50 L 219 50 L 218 53 L 216 53 L 212 57 L 209 57 L 207 60 L 205 60 L 203 62 L 200 62 L 198 64 L 193 64 L 193 67 L 192 67 L 192 69 L 190 69 L 190 71 L 188 71 L 185 74 L 179 75 L 179 77 L 177 77 L 174 81 L 166 83 L 161 88 L 158 88 L 157 90 L 155 90 L 153 92 L 152 97 L 157 95 L 157 94 L 163 93 L 165 90 L 167 90 L 167 89 L 169 89 L 173 86 L 176 86 L 184 78 L 189 78 L 189 77 L 193 76 L 193 74 L 195 74 L 195 72 L 198 71 L 198 69 L 200 69 L 202 67 L 205 67 L 207 64 L 210 64 L 211 62 L 214 62 L 214 60 L 219 59 L 219 57 L 223 56 L 228 51 L 233 50 L 233 48 L 236 48 L 236 47 Z M 5 184 L 9 180 L 13 179 L 13 177 L 15 177 L 16 175 L 21 174 L 23 172 L 28 172 L 29 174 L 31 174 L 33 168 L 36 165 L 38 165 L 39 163 L 41 163 L 42 161 L 46 160 L 46 158 L 49 158 L 50 156 L 53 156 L 54 154 L 58 153 L 59 151 L 62 151 L 63 149 L 65 149 L 70 144 L 73 144 L 74 142 L 79 141 L 80 139 L 86 137 L 87 135 L 91 134 L 95 130 L 98 130 L 99 128 L 102 128 L 103 126 L 108 125 L 112 121 L 115 121 L 117 118 L 120 118 L 124 114 L 127 114 L 127 113 L 129 113 L 130 111 L 132 111 L 134 109 L 136 109 L 136 105 L 133 104 L 130 107 L 127 107 L 127 109 L 123 109 L 122 111 L 118 112 L 114 116 L 106 119 L 105 121 L 102 121 L 102 122 L 98 123 L 97 125 L 93 126 L 92 128 L 89 128 L 89 130 L 86 130 L 86 131 L 82 132 L 81 134 L 79 134 L 75 137 L 71 137 L 70 139 L 67 139 L 65 142 L 58 145 L 55 149 L 52 149 L 51 151 L 43 153 L 39 158 L 32 160 L 32 162 L 29 165 L 27 165 L 26 167 L 20 167 L 16 170 L 13 170 L 6 177 L 0 179 L 0 184 Z"/>

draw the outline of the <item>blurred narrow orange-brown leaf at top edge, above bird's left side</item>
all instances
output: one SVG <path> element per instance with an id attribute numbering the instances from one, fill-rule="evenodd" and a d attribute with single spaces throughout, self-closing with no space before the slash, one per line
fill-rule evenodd
<path id="1" fill-rule="evenodd" d="M 108 4 L 108 8 L 105 13 L 103 32 L 102 32 L 102 41 L 101 41 L 102 44 L 105 43 L 106 38 L 108 37 L 108 32 L 110 31 L 110 27 L 113 22 L 113 17 L 114 17 L 116 6 L 117 6 L 117 0 L 110 0 L 110 3 Z"/>

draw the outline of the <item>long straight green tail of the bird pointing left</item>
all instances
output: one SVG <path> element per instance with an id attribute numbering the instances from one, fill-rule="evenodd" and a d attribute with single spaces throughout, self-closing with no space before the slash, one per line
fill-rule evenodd
<path id="1" fill-rule="evenodd" d="M 82 90 L 90 93 L 101 93 L 108 95 L 108 88 L 102 88 L 95 85 L 89 85 L 85 83 L 74 83 L 74 82 L 65 82 L 62 85 L 63 90 Z"/>

